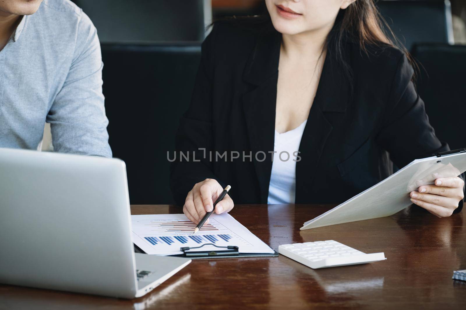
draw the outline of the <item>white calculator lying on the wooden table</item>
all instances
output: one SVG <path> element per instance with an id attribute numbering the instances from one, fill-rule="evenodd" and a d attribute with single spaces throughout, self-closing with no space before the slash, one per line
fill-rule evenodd
<path id="1" fill-rule="evenodd" d="M 386 259 L 383 252 L 366 254 L 335 240 L 283 244 L 278 247 L 278 252 L 314 269 L 366 264 Z"/>

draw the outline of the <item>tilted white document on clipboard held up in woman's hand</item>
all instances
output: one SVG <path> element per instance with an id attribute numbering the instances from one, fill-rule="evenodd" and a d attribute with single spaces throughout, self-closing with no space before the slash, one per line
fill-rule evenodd
<path id="1" fill-rule="evenodd" d="M 409 193 L 419 186 L 434 184 L 437 178 L 456 177 L 464 171 L 466 152 L 416 159 L 343 204 L 307 221 L 300 229 L 393 215 L 412 204 Z"/>

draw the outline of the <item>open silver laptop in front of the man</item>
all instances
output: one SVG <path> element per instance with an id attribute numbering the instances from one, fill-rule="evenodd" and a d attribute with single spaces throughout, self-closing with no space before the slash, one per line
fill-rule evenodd
<path id="1" fill-rule="evenodd" d="M 0 148 L 0 283 L 134 298 L 190 262 L 134 253 L 123 161 Z"/>

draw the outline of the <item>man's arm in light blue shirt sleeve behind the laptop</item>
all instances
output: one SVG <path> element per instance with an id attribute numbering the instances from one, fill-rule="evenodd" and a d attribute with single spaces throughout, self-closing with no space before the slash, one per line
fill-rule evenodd
<path id="1" fill-rule="evenodd" d="M 48 112 L 55 152 L 112 157 L 95 26 L 81 13 L 68 76 Z"/>

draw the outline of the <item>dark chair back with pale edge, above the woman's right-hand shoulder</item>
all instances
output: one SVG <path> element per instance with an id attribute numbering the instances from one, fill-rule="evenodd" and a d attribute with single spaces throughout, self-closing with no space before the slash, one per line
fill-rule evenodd
<path id="1" fill-rule="evenodd" d="M 408 50 L 416 42 L 453 44 L 452 11 L 448 0 L 380 0 L 377 7 Z"/>

